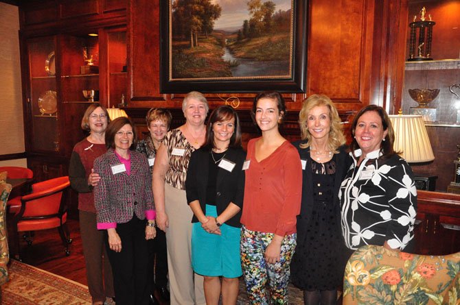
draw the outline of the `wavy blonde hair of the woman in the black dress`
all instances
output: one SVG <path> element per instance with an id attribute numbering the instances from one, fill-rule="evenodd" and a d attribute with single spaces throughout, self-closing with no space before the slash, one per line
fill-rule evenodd
<path id="1" fill-rule="evenodd" d="M 329 109 L 329 119 L 331 120 L 331 127 L 329 138 L 327 139 L 327 148 L 330 151 L 337 153 L 338 147 L 341 147 L 347 141 L 343 134 L 343 127 L 341 119 L 338 117 L 338 112 L 332 100 L 326 95 L 310 95 L 308 99 L 304 99 L 302 109 L 299 112 L 299 125 L 301 132 L 301 139 L 307 140 L 307 143 L 301 144 L 301 148 L 307 148 L 311 145 L 312 135 L 308 131 L 307 119 L 310 111 L 317 106 L 326 106 Z"/>

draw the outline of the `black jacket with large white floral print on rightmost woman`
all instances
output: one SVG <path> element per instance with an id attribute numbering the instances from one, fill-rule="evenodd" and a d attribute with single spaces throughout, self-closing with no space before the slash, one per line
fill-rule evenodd
<path id="1" fill-rule="evenodd" d="M 354 155 L 359 158 L 361 153 L 357 149 Z M 372 151 L 359 167 L 353 158 L 341 184 L 342 234 L 349 249 L 385 241 L 393 249 L 404 249 L 413 239 L 417 189 L 412 169 L 397 154 L 381 156 Z"/>

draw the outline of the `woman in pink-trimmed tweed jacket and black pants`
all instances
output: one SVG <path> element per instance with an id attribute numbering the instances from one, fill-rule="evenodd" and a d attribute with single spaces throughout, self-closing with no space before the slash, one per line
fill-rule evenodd
<path id="1" fill-rule="evenodd" d="M 94 203 L 97 229 L 104 230 L 117 305 L 150 302 L 148 240 L 154 239 L 152 173 L 147 157 L 135 151 L 134 123 L 119 117 L 108 125 L 107 152 L 96 158 L 100 175 Z"/>

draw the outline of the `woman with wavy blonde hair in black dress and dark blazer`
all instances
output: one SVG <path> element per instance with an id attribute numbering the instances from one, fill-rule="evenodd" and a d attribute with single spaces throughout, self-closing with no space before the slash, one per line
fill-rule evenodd
<path id="1" fill-rule="evenodd" d="M 294 146 L 299 150 L 303 182 L 291 279 L 303 290 L 304 304 L 336 304 L 345 269 L 338 191 L 352 160 L 329 97 L 312 95 L 303 101 L 299 125 L 302 141 Z"/>

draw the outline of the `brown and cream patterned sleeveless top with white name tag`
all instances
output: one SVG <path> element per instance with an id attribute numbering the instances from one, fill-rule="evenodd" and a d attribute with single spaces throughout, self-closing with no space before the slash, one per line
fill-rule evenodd
<path id="1" fill-rule="evenodd" d="M 179 128 L 170 130 L 165 135 L 163 145 L 168 151 L 170 160 L 170 169 L 165 175 L 165 182 L 185 191 L 185 179 L 187 178 L 190 156 L 196 149 L 188 143 Z"/>

